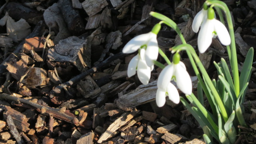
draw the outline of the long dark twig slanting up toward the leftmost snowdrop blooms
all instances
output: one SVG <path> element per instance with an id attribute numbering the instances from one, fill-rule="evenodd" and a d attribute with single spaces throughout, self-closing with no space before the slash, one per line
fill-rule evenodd
<path id="1" fill-rule="evenodd" d="M 64 82 L 63 84 L 60 84 L 56 87 L 54 87 L 51 91 L 50 91 L 50 94 L 53 95 L 53 94 L 60 94 L 61 90 L 63 88 L 66 88 L 68 86 L 72 86 L 73 84 L 76 84 L 78 83 L 80 80 L 84 79 L 87 75 L 93 73 L 93 72 L 96 72 L 98 70 L 98 68 L 101 68 L 102 66 L 106 66 L 106 64 L 118 59 L 118 58 L 122 58 L 124 56 L 126 56 L 127 54 L 124 54 L 124 53 L 118 53 L 118 54 L 115 54 L 114 56 L 111 56 L 109 58 L 107 58 L 106 60 L 104 60 L 103 62 L 95 65 L 94 67 L 90 68 L 89 70 L 75 76 L 74 78 L 70 79 L 68 82 Z"/>

